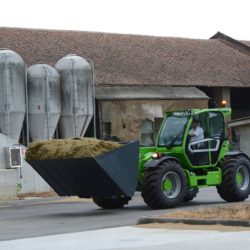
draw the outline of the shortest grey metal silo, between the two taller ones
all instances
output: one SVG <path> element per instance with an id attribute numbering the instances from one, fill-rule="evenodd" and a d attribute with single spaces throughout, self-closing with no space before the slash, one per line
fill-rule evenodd
<path id="1" fill-rule="evenodd" d="M 32 65 L 27 74 L 31 139 L 51 139 L 61 114 L 59 74 L 47 64 Z"/>

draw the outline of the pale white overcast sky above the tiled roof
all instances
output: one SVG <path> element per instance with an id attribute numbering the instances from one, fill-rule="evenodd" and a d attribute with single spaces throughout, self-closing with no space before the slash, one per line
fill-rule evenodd
<path id="1" fill-rule="evenodd" d="M 249 0 L 3 0 L 0 26 L 250 41 Z"/>

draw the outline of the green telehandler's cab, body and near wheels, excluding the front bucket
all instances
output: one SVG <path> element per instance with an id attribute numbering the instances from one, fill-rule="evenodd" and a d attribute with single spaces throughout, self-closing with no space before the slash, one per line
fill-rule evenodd
<path id="1" fill-rule="evenodd" d="M 192 200 L 199 188 L 216 186 L 228 202 L 250 193 L 250 159 L 230 151 L 225 118 L 231 109 L 167 112 L 156 147 L 140 148 L 139 183 L 142 197 L 154 209 L 171 208 Z M 192 140 L 193 121 L 203 138 Z"/>

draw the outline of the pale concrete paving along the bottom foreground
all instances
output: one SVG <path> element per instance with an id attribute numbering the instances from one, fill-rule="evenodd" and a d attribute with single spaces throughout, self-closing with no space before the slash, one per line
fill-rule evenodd
<path id="1" fill-rule="evenodd" d="M 250 232 L 118 227 L 11 241 L 4 250 L 238 250 L 249 249 Z"/>

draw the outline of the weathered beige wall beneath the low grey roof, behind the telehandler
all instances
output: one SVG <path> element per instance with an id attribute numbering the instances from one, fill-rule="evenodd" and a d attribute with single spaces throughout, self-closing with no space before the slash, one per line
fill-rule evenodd
<path id="1" fill-rule="evenodd" d="M 103 124 L 111 123 L 111 136 L 122 141 L 141 137 L 141 122 L 154 122 L 163 118 L 166 111 L 207 108 L 207 100 L 122 100 L 99 101 L 101 130 Z"/>

